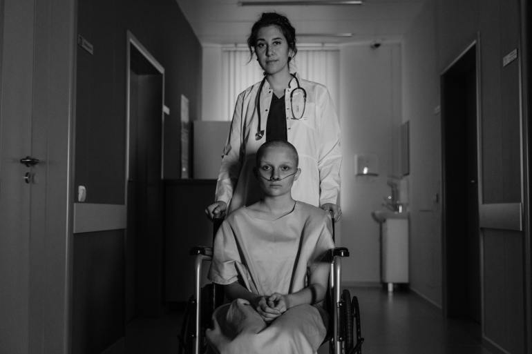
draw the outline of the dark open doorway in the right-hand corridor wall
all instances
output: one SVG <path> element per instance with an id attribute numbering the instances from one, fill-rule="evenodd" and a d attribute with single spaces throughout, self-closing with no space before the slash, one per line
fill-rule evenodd
<path id="1" fill-rule="evenodd" d="M 443 298 L 446 317 L 481 324 L 477 102 L 475 42 L 441 75 Z"/>

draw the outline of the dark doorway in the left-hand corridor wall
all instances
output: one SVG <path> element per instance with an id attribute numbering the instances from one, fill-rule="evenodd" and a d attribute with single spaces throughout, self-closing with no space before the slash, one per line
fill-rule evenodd
<path id="1" fill-rule="evenodd" d="M 127 35 L 126 322 L 163 306 L 164 68 Z"/>

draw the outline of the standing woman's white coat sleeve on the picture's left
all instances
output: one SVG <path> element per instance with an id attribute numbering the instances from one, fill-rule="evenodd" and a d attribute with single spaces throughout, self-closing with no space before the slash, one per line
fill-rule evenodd
<path id="1" fill-rule="evenodd" d="M 240 150 L 242 148 L 243 107 L 244 92 L 238 95 L 238 99 L 236 99 L 231 128 L 229 128 L 229 135 L 223 149 L 222 164 L 216 183 L 215 200 L 225 201 L 227 205 L 229 205 L 229 201 L 233 197 L 234 187 L 236 186 L 242 164 Z"/>

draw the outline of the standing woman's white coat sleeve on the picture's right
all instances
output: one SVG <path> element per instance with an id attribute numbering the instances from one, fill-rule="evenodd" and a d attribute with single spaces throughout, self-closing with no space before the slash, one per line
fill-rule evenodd
<path id="1" fill-rule="evenodd" d="M 321 126 L 318 144 L 318 169 L 320 176 L 320 205 L 337 204 L 340 193 L 340 126 L 328 90 L 319 93 L 318 110 Z"/>

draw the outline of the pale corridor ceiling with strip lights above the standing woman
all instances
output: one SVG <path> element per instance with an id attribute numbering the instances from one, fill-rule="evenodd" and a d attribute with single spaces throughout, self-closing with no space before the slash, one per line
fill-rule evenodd
<path id="1" fill-rule="evenodd" d="M 176 1 L 205 45 L 245 43 L 260 13 L 269 11 L 289 18 L 298 43 L 399 41 L 428 0 L 365 0 L 360 6 L 240 6 L 239 0 Z M 337 33 L 352 33 L 352 37 L 328 36 Z"/>

